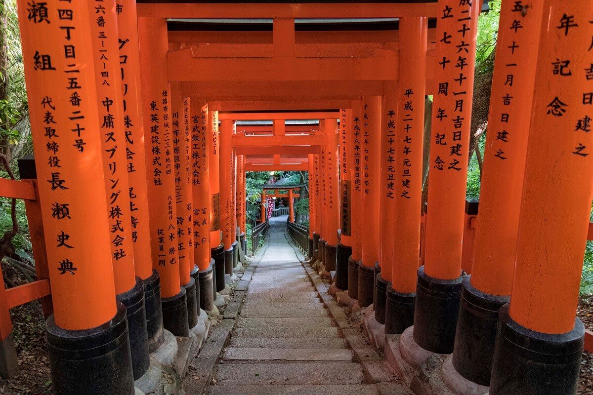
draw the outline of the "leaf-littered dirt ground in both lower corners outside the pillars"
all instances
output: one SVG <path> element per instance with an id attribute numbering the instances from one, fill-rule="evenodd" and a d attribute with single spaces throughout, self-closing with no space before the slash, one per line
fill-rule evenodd
<path id="1" fill-rule="evenodd" d="M 587 329 L 593 330 L 593 296 L 581 299 L 578 316 Z M 34 301 L 16 307 L 11 310 L 11 317 L 21 374 L 13 380 L 0 379 L 0 394 L 52 394 L 41 305 Z M 593 354 L 586 351 L 581 362 L 577 395 L 593 395 Z"/>

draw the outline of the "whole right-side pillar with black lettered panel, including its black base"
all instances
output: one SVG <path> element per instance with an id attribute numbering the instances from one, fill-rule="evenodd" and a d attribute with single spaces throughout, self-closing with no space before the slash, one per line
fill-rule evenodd
<path id="1" fill-rule="evenodd" d="M 348 135 L 352 134 L 352 110 L 340 110 L 340 242 L 336 254 L 336 288 L 348 289 L 348 258 L 352 255 L 352 181 Z"/>

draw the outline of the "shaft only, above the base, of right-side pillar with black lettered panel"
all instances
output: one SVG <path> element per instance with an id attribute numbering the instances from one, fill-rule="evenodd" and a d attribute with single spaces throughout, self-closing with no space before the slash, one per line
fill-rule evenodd
<path id="1" fill-rule="evenodd" d="M 350 171 L 352 146 L 348 135 L 352 134 L 352 110 L 340 110 L 340 243 L 352 246 L 352 171 Z"/>

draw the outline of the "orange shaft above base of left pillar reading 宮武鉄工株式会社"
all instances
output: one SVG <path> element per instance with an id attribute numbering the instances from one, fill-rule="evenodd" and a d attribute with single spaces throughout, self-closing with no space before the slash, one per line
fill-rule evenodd
<path id="1" fill-rule="evenodd" d="M 194 263 L 204 271 L 211 261 L 210 184 L 208 174 L 208 106 L 189 99 L 192 134 L 192 194 Z"/>

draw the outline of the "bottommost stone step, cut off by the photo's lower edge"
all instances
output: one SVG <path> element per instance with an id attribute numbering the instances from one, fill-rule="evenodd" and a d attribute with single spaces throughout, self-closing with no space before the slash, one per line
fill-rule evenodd
<path id="1" fill-rule="evenodd" d="M 380 395 L 374 384 L 336 386 L 216 386 L 210 395 Z"/>

